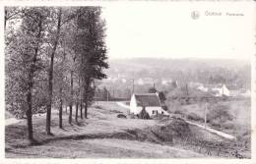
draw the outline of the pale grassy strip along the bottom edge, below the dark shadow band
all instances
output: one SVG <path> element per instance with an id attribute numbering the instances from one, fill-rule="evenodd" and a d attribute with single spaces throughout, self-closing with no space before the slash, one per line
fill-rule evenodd
<path id="1" fill-rule="evenodd" d="M 164 158 L 204 157 L 204 155 L 176 147 L 137 140 L 96 138 L 60 140 L 40 146 L 18 148 L 6 157 L 54 157 L 54 158 Z"/>

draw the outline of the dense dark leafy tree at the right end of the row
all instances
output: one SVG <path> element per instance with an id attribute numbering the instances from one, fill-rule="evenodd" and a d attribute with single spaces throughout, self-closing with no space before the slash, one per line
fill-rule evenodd
<path id="1" fill-rule="evenodd" d="M 81 13 L 84 13 L 83 15 Z M 106 47 L 104 43 L 104 22 L 100 18 L 99 7 L 81 7 L 78 9 L 76 54 L 80 54 L 79 75 L 82 81 L 82 95 L 85 103 L 85 118 L 88 106 L 93 101 L 95 80 L 106 78 L 103 69 L 106 63 Z"/>

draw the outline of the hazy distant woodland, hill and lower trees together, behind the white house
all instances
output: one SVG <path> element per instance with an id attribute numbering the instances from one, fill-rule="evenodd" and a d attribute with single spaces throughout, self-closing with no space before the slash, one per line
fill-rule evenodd
<path id="1" fill-rule="evenodd" d="M 250 61 L 243 60 L 133 58 L 110 60 L 109 66 L 106 74 L 111 79 L 100 82 L 99 86 L 111 90 L 113 96 L 128 99 L 133 82 L 135 92 L 148 92 L 154 82 L 155 88 L 162 91 L 171 91 L 176 87 L 185 89 L 188 82 L 225 83 L 231 89 L 249 89 L 251 83 Z M 138 83 L 138 80 L 145 78 L 152 79 L 152 82 Z M 161 80 L 172 82 L 163 84 Z"/>

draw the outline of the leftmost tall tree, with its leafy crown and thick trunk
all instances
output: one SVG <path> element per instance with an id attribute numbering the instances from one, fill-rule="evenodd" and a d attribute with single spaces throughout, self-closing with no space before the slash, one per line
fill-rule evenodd
<path id="1" fill-rule="evenodd" d="M 44 35 L 43 27 L 47 12 L 44 8 L 25 8 L 23 22 L 19 27 L 12 44 L 6 52 L 8 67 L 8 84 L 16 81 L 16 89 L 19 94 L 26 97 L 22 100 L 21 108 L 16 110 L 26 111 L 28 120 L 28 139 L 33 142 L 32 137 L 32 95 L 35 73 L 41 69 L 42 38 Z M 12 72 L 9 72 L 12 71 Z M 16 79 L 14 79 L 16 77 Z M 8 93 L 16 90 L 7 88 Z M 18 91 L 17 91 L 18 92 Z"/>

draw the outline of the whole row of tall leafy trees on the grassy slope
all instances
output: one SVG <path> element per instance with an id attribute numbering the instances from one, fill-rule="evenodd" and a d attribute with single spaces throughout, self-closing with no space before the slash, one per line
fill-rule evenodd
<path id="1" fill-rule="evenodd" d="M 51 109 L 87 110 L 93 101 L 96 80 L 108 68 L 104 21 L 99 7 L 5 8 L 6 107 L 26 114 L 28 138 L 32 113 L 46 110 L 45 131 L 51 135 Z"/>

